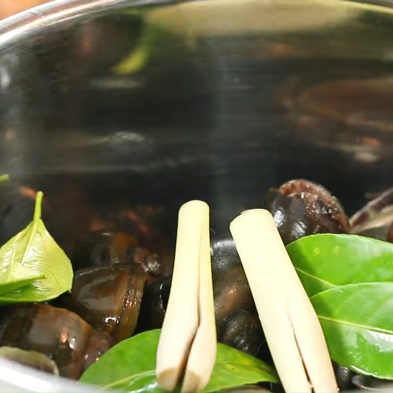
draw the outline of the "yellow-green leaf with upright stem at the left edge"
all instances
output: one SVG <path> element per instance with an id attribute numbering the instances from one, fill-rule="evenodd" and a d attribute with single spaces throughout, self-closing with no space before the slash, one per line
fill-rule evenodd
<path id="1" fill-rule="evenodd" d="M 41 220 L 42 197 L 33 221 L 0 249 L 0 304 L 43 302 L 71 289 L 71 262 Z"/>

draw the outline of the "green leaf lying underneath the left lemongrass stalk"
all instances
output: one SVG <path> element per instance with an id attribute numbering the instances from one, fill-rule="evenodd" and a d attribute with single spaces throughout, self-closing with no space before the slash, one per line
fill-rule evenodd
<path id="1" fill-rule="evenodd" d="M 155 377 L 160 332 L 152 330 L 121 341 L 84 372 L 81 382 L 127 392 L 163 392 Z M 277 382 L 276 372 L 259 359 L 219 343 L 216 364 L 203 392 L 261 381 Z"/>

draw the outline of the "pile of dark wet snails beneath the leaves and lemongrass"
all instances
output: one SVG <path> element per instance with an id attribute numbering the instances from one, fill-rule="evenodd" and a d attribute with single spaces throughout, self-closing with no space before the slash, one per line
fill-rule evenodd
<path id="1" fill-rule="evenodd" d="M 392 204 L 393 191 L 389 190 L 349 220 L 328 190 L 297 179 L 270 189 L 261 207 L 272 213 L 284 244 L 289 244 L 316 233 L 366 231 L 368 236 L 391 239 Z M 144 231 L 148 229 L 144 227 Z M 43 365 L 40 358 L 34 365 L 23 351 L 23 356 L 18 352 L 8 357 L 78 379 L 116 342 L 160 328 L 168 304 L 172 262 L 167 250 L 153 252 L 146 244 L 140 233 L 113 229 L 88 233 L 71 256 L 74 268 L 79 269 L 71 293 L 48 304 L 0 309 L 0 346 L 30 351 L 31 356 L 38 352 L 46 355 L 48 364 Z M 212 236 L 211 253 L 218 341 L 269 362 L 253 296 L 229 234 Z M 350 387 L 354 373 L 335 367 L 339 387 Z"/>

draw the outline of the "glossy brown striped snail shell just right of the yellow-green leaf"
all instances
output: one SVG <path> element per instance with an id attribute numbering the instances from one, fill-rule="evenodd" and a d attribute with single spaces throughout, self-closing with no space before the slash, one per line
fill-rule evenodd
<path id="1" fill-rule="evenodd" d="M 71 294 L 62 301 L 94 329 L 121 341 L 134 333 L 145 280 L 139 264 L 85 268 L 75 273 Z"/>

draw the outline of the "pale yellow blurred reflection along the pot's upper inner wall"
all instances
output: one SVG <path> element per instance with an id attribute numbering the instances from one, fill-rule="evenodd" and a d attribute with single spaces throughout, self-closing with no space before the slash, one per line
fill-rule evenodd
<path id="1" fill-rule="evenodd" d="M 334 26 L 363 7 L 337 0 L 202 0 L 148 12 L 148 20 L 195 35 L 294 32 Z"/>

